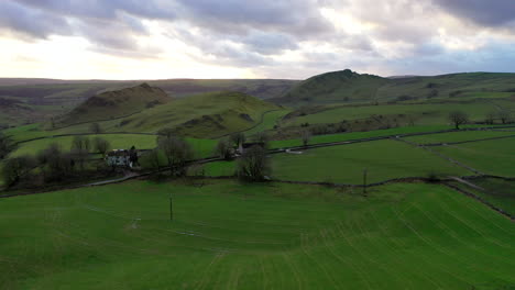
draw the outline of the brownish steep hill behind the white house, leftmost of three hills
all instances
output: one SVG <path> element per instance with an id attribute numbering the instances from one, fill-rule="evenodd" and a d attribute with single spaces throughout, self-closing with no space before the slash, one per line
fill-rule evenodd
<path id="1" fill-rule="evenodd" d="M 59 118 L 56 123 L 57 126 L 63 126 L 122 118 L 144 109 L 164 104 L 169 100 L 171 98 L 162 89 L 142 83 L 136 87 L 106 91 L 94 96 Z"/>

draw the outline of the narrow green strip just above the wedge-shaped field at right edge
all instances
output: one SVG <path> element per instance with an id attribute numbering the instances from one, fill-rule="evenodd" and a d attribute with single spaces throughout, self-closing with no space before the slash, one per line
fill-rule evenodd
<path id="1" fill-rule="evenodd" d="M 474 141 L 482 138 L 495 138 L 495 137 L 515 137 L 514 132 L 500 132 L 500 131 L 462 131 L 462 132 L 450 132 L 440 133 L 423 136 L 406 137 L 410 142 L 418 144 L 435 144 L 435 143 L 452 143 L 452 142 L 464 142 Z"/>

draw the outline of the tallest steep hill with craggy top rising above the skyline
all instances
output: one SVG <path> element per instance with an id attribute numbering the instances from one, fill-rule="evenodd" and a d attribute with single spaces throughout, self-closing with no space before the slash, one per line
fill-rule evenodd
<path id="1" fill-rule="evenodd" d="M 375 99 L 377 88 L 388 82 L 386 78 L 346 69 L 306 79 L 272 101 L 292 105 L 370 101 Z"/>

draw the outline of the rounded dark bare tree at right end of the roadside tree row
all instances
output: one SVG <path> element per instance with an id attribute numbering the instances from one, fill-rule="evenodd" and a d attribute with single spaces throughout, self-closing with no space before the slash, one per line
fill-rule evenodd
<path id="1" fill-rule="evenodd" d="M 238 159 L 237 175 L 246 181 L 264 181 L 270 174 L 266 149 L 261 146 L 252 146 Z"/>

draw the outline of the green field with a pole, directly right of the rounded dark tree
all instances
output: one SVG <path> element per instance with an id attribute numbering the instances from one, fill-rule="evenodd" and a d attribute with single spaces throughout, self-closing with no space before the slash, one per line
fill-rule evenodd
<path id="1" fill-rule="evenodd" d="M 278 154 L 272 159 L 272 177 L 281 180 L 337 183 L 379 182 L 402 177 L 472 175 L 424 149 L 397 141 L 376 141 Z"/>

